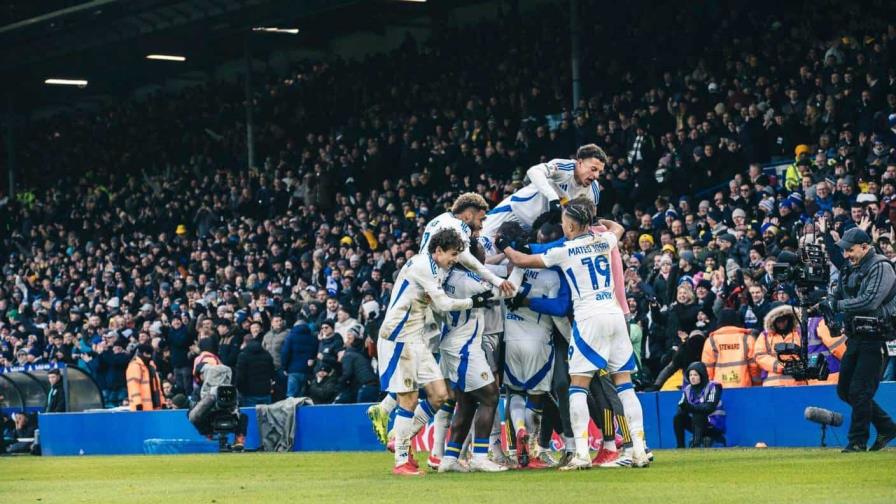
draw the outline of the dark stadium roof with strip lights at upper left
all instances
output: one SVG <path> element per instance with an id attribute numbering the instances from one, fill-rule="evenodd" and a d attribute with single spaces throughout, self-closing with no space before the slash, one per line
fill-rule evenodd
<path id="1" fill-rule="evenodd" d="M 165 79 L 208 78 L 243 55 L 255 27 L 299 28 L 299 37 L 257 35 L 253 54 L 326 50 L 334 36 L 407 23 L 447 4 L 429 0 L 16 0 L 0 11 L 2 84 L 17 112 L 123 95 Z M 153 61 L 149 54 L 186 61 Z M 46 86 L 48 78 L 85 79 L 89 89 Z"/>

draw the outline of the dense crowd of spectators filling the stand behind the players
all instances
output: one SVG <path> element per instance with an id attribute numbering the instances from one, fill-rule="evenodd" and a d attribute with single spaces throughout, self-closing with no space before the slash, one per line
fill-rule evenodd
<path id="1" fill-rule="evenodd" d="M 629 230 L 645 383 L 699 360 L 721 310 L 760 332 L 793 304 L 770 264 L 805 232 L 859 226 L 896 255 L 885 6 L 583 3 L 574 107 L 568 12 L 548 8 L 266 76 L 251 169 L 239 83 L 33 124 L 30 185 L 0 199 L 0 366 L 79 366 L 117 406 L 150 344 L 169 399 L 206 350 L 246 404 L 371 400 L 368 349 L 427 220 L 590 142 L 600 211 Z"/>

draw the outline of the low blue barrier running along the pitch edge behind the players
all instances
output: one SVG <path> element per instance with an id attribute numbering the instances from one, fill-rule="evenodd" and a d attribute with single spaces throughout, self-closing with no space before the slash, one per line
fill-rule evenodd
<path id="1" fill-rule="evenodd" d="M 680 392 L 641 393 L 647 444 L 674 448 L 672 417 Z M 884 383 L 875 396 L 880 405 L 896 414 L 896 383 Z M 820 428 L 803 418 L 807 406 L 844 415 L 844 425 L 829 427 L 830 446 L 846 443 L 849 408 L 837 398 L 834 386 L 769 387 L 725 390 L 722 401 L 728 414 L 728 446 L 818 446 Z M 376 451 L 377 442 L 367 420 L 366 404 L 299 407 L 296 412 L 295 451 Z M 246 447 L 260 444 L 253 408 L 249 415 Z M 40 437 L 45 455 L 112 455 L 143 453 L 146 439 L 197 440 L 199 436 L 184 411 L 90 412 L 40 415 Z M 872 434 L 873 435 L 873 434 Z M 873 439 L 873 438 L 872 438 Z M 423 446 L 428 446 L 426 440 Z"/>

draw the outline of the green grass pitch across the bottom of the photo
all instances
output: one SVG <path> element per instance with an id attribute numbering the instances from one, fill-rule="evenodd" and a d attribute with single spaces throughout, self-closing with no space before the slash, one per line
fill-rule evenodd
<path id="1" fill-rule="evenodd" d="M 418 455 L 421 463 L 423 455 Z M 648 469 L 393 477 L 388 453 L 0 458 L 0 502 L 896 502 L 896 450 L 656 451 Z"/>

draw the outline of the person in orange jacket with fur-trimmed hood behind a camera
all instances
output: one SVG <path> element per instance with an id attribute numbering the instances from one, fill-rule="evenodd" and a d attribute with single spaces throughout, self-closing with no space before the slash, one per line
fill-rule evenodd
<path id="1" fill-rule="evenodd" d="M 765 330 L 756 338 L 756 364 L 765 372 L 764 387 L 807 385 L 805 381 L 783 374 L 784 363 L 775 352 L 775 345 L 779 343 L 800 346 L 799 321 L 792 306 L 778 306 L 765 316 Z"/>

